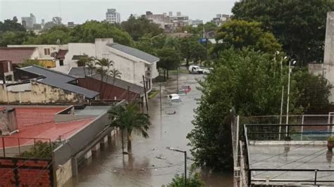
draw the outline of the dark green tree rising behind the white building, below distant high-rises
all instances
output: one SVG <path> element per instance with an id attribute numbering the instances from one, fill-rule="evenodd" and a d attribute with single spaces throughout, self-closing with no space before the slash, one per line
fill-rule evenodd
<path id="1" fill-rule="evenodd" d="M 130 15 L 127 21 L 124 21 L 120 24 L 120 26 L 130 34 L 132 39 L 138 41 L 140 37 L 143 37 L 144 34 L 151 34 L 151 36 L 155 36 L 157 34 L 163 33 L 163 29 L 159 27 L 154 22 L 150 22 L 147 18 L 135 18 Z"/>

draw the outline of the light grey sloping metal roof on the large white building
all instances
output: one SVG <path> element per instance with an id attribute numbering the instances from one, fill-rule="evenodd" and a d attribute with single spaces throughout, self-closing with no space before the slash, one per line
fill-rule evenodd
<path id="1" fill-rule="evenodd" d="M 145 53 L 144 51 L 140 51 L 139 49 L 135 49 L 135 48 L 132 48 L 132 47 L 129 47 L 129 46 L 123 46 L 123 45 L 117 44 L 117 43 L 107 44 L 107 46 L 110 46 L 113 49 L 117 49 L 118 51 L 122 51 L 123 53 L 127 53 L 131 56 L 135 56 L 137 58 L 145 60 L 149 63 L 154 63 L 154 62 L 160 60 L 156 56 L 152 56 L 149 53 Z"/>

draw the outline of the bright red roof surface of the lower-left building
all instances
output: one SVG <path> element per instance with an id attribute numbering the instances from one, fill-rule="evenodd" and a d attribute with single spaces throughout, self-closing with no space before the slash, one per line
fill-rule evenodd
<path id="1" fill-rule="evenodd" d="M 33 144 L 31 138 L 50 138 L 56 141 L 59 136 L 66 139 L 94 120 L 89 117 L 82 120 L 68 120 L 66 122 L 55 122 L 54 117 L 58 112 L 68 106 L 10 106 L 16 108 L 16 119 L 18 122 L 18 133 L 5 136 L 5 147 Z M 10 137 L 10 138 L 6 138 Z M 0 148 L 3 147 L 0 143 Z"/>

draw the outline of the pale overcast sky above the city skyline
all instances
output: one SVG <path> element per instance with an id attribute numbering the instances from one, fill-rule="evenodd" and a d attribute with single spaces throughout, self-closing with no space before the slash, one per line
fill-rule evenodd
<path id="1" fill-rule="evenodd" d="M 74 21 L 82 23 L 86 20 L 104 20 L 107 8 L 116 8 L 120 13 L 120 19 L 127 20 L 130 14 L 142 15 L 146 11 L 153 13 L 176 14 L 180 11 L 183 15 L 189 15 L 192 20 L 200 19 L 207 22 L 218 13 L 231 14 L 231 8 L 237 0 L 0 0 L 0 20 L 11 19 L 16 15 L 20 21 L 21 17 L 33 13 L 36 22 L 42 19 L 45 22 L 54 16 L 61 16 L 63 23 Z"/>

